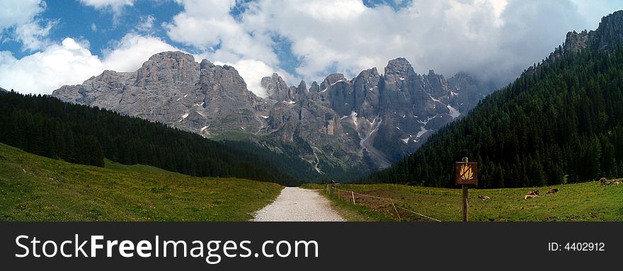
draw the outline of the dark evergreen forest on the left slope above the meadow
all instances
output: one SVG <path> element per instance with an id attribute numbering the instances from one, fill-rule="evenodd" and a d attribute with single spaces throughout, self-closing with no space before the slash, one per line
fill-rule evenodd
<path id="1" fill-rule="evenodd" d="M 0 142 L 92 166 L 103 166 L 108 158 L 193 176 L 299 183 L 244 147 L 234 149 L 160 123 L 50 96 L 0 91 Z"/>

